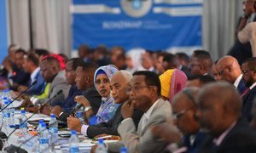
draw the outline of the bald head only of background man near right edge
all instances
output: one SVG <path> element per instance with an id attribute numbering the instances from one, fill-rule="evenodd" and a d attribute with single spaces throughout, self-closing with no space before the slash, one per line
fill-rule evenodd
<path id="1" fill-rule="evenodd" d="M 216 65 L 222 80 L 234 83 L 236 78 L 241 75 L 241 68 L 238 61 L 232 56 L 224 56 L 218 60 Z"/>

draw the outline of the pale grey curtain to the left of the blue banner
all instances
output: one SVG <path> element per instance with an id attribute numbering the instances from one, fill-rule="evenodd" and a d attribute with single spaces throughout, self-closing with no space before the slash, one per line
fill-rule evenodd
<path id="1" fill-rule="evenodd" d="M 29 49 L 32 41 L 34 48 L 47 48 L 55 54 L 63 53 L 70 57 L 70 3 L 71 0 L 9 0 L 10 42 Z"/>

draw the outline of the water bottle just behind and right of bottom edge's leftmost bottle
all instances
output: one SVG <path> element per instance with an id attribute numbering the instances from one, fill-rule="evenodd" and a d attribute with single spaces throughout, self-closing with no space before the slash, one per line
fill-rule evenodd
<path id="1" fill-rule="evenodd" d="M 51 144 L 50 148 L 54 150 L 54 146 L 55 144 L 57 144 L 57 140 L 58 140 L 58 122 L 54 114 L 50 115 L 49 133 L 50 133 L 50 144 Z"/>

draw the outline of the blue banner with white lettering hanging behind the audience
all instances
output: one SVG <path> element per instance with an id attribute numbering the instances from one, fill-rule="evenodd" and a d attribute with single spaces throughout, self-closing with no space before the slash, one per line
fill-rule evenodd
<path id="1" fill-rule="evenodd" d="M 201 48 L 202 0 L 73 0 L 73 50 Z"/>

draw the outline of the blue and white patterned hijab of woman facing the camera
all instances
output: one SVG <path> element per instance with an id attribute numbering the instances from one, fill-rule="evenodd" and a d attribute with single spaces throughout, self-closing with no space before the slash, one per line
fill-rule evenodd
<path id="1" fill-rule="evenodd" d="M 102 74 L 102 71 L 104 71 L 109 81 L 111 81 L 111 78 L 118 71 L 118 69 L 114 65 L 105 65 L 99 67 L 95 72 L 94 82 L 96 82 L 97 75 Z M 111 94 L 109 94 L 108 97 L 102 97 L 102 105 L 100 106 L 99 111 L 96 114 L 96 124 L 101 122 L 108 122 L 113 117 L 118 107 L 119 104 L 113 103 L 113 98 Z"/>

